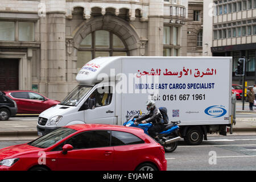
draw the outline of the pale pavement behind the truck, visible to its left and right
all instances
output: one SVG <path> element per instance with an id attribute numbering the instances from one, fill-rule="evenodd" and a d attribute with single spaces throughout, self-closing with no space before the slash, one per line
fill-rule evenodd
<path id="1" fill-rule="evenodd" d="M 236 113 L 252 114 L 253 116 L 237 118 L 236 125 L 233 125 L 232 135 L 256 135 L 256 106 L 251 111 L 249 102 L 245 102 L 244 108 L 242 108 L 242 102 L 237 101 Z M 30 140 L 38 138 L 36 130 L 37 119 L 38 115 L 35 114 L 18 114 L 16 117 L 9 118 L 8 121 L 0 121 L 0 140 Z"/>

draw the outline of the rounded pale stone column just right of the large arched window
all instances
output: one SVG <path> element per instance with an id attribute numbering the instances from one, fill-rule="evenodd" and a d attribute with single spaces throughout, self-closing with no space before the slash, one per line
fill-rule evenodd
<path id="1" fill-rule="evenodd" d="M 163 56 L 163 1 L 150 0 L 148 8 L 148 56 Z"/>

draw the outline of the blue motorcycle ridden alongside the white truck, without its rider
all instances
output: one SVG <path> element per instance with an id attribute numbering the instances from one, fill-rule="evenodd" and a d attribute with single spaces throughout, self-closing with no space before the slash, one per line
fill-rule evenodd
<path id="1" fill-rule="evenodd" d="M 133 115 L 132 117 L 127 118 L 127 122 L 123 124 L 123 126 L 127 127 L 138 127 L 144 130 L 144 133 L 148 134 L 148 129 L 150 129 L 153 124 L 152 123 L 139 123 L 135 122 L 135 118 L 138 118 L 138 115 Z M 178 137 L 177 131 L 179 131 L 178 124 L 180 121 L 172 121 L 171 124 L 168 124 L 164 127 L 164 130 L 160 133 L 156 133 L 159 140 L 157 141 L 164 147 L 164 151 L 166 152 L 173 152 L 177 148 L 177 141 L 181 138 Z"/>

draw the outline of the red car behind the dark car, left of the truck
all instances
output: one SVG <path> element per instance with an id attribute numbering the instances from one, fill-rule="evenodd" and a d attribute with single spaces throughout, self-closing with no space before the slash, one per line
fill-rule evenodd
<path id="1" fill-rule="evenodd" d="M 18 107 L 18 114 L 40 114 L 60 101 L 51 100 L 41 94 L 29 90 L 3 91 L 12 98 Z"/>

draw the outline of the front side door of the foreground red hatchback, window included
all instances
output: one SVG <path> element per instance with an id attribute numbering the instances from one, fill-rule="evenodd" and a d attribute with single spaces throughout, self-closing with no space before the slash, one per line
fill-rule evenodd
<path id="1" fill-rule="evenodd" d="M 77 134 L 59 146 L 71 144 L 73 150 L 57 155 L 57 170 L 112 170 L 113 147 L 110 147 L 110 131 L 95 130 Z"/>

